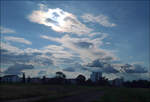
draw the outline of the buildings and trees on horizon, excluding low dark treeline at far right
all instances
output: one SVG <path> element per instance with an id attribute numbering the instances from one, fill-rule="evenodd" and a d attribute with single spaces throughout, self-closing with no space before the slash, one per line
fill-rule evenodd
<path id="1" fill-rule="evenodd" d="M 86 80 L 85 76 L 79 75 L 77 78 L 66 79 L 66 76 L 62 72 L 56 72 L 56 76 L 54 78 L 26 78 L 25 73 L 23 73 L 22 77 L 18 75 L 5 75 L 0 77 L 1 83 L 45 83 L 45 84 L 90 84 L 90 85 L 115 85 L 122 86 L 123 78 L 116 78 L 114 80 L 108 80 L 105 77 L 102 77 L 102 72 L 92 72 L 90 78 Z"/>

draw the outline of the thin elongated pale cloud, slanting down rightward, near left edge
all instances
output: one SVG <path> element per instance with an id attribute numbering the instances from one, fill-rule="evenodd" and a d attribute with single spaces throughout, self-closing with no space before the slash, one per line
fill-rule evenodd
<path id="1" fill-rule="evenodd" d="M 27 45 L 32 44 L 32 42 L 30 42 L 24 38 L 21 38 L 21 37 L 5 36 L 4 39 L 7 41 L 18 42 L 18 43 L 23 43 L 23 44 L 27 44 Z"/>

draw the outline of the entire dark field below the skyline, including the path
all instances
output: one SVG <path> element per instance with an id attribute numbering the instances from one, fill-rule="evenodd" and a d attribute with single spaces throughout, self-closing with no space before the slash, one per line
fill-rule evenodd
<path id="1" fill-rule="evenodd" d="M 150 102 L 150 89 L 1 84 L 0 100 L 3 102 Z"/>

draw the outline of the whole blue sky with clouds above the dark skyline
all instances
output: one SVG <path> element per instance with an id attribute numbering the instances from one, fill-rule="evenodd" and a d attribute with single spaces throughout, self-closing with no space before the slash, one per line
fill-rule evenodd
<path id="1" fill-rule="evenodd" d="M 1 75 L 149 78 L 149 1 L 1 0 Z"/>

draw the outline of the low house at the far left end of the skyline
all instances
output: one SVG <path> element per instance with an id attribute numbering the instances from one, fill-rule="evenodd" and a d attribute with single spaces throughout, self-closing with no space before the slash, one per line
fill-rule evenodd
<path id="1" fill-rule="evenodd" d="M 20 81 L 21 79 L 18 77 L 18 75 L 5 75 L 1 78 L 1 82 L 4 83 L 16 83 Z"/>

